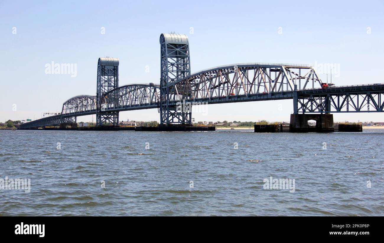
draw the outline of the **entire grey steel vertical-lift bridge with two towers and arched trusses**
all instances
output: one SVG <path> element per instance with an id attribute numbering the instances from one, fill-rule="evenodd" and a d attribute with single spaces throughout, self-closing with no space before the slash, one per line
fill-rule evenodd
<path id="1" fill-rule="evenodd" d="M 119 60 L 101 57 L 96 96 L 72 97 L 59 115 L 20 128 L 65 127 L 79 116 L 94 114 L 97 126 L 118 126 L 119 112 L 141 109 L 157 109 L 160 126 L 190 125 L 191 105 L 282 99 L 293 100 L 291 126 L 297 130 L 309 118 L 325 129 L 333 127 L 330 113 L 383 112 L 383 83 L 324 88 L 313 66 L 290 63 L 235 63 L 191 73 L 186 35 L 163 33 L 160 45 L 159 84 L 119 86 Z"/>

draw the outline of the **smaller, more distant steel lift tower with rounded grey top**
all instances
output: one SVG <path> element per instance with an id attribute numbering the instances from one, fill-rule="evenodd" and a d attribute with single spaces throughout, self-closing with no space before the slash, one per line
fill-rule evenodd
<path id="1" fill-rule="evenodd" d="M 101 97 L 119 87 L 119 59 L 100 57 L 97 66 L 96 125 L 118 125 L 119 112 L 108 112 L 101 107 Z"/>

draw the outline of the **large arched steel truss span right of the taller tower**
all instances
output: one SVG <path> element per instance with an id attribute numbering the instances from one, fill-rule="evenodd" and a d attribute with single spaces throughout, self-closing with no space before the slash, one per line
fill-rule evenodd
<path id="1" fill-rule="evenodd" d="M 311 85 L 308 85 L 309 83 Z M 171 102 L 286 92 L 302 90 L 307 85 L 311 88 L 321 87 L 321 80 L 311 66 L 237 63 L 204 70 L 169 82 L 167 92 Z"/>

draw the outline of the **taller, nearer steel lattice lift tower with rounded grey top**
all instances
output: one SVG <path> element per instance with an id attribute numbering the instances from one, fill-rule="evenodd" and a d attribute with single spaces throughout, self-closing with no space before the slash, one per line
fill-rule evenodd
<path id="1" fill-rule="evenodd" d="M 161 75 L 160 75 L 160 125 L 191 124 L 192 110 L 183 102 L 181 107 L 170 105 L 172 94 L 168 85 L 176 80 L 190 75 L 189 41 L 187 35 L 164 34 L 160 35 Z M 187 99 L 189 94 L 179 95 Z M 180 99 L 180 100 L 182 100 Z"/>

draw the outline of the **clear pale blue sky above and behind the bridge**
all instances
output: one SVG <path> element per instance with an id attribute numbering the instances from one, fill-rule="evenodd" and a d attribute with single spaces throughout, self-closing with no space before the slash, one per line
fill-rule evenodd
<path id="1" fill-rule="evenodd" d="M 70 97 L 95 95 L 99 57 L 119 58 L 120 85 L 159 83 L 159 36 L 171 31 L 189 36 L 192 72 L 242 62 L 337 63 L 336 85 L 384 83 L 382 1 L 107 3 L 0 0 L 0 121 L 37 119 L 60 112 Z M 52 61 L 77 64 L 77 76 L 46 74 L 45 64 Z M 291 100 L 206 109 L 206 116 L 193 116 L 196 121 L 288 121 L 293 112 Z M 159 121 L 155 109 L 120 117 Z M 384 113 L 335 114 L 334 120 L 384 121 Z"/>

